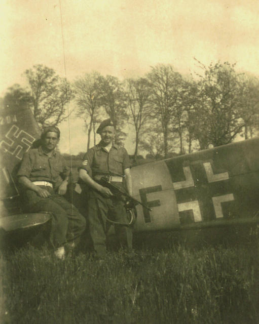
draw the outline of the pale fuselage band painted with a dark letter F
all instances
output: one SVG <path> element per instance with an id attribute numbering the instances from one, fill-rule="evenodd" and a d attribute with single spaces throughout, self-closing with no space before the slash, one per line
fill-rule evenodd
<path id="1" fill-rule="evenodd" d="M 152 208 L 137 206 L 136 231 L 162 230 L 179 224 L 177 201 L 165 161 L 144 164 L 131 169 L 133 196 Z"/>

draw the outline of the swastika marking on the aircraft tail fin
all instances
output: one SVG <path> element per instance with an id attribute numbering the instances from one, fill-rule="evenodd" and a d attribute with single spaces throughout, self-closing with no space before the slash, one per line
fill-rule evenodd
<path id="1" fill-rule="evenodd" d="M 23 130 L 19 131 L 16 125 L 13 125 L 5 136 L 5 140 L 0 142 L 5 152 L 8 152 L 19 160 L 22 159 L 23 154 L 27 152 L 34 141 L 34 137 Z"/>

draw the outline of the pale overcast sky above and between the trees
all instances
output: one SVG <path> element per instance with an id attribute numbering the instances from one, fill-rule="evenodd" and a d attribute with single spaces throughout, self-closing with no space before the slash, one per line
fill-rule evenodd
<path id="1" fill-rule="evenodd" d="M 258 0 L 2 0 L 0 15 L 0 96 L 15 83 L 25 86 L 21 74 L 34 64 L 69 81 L 92 70 L 139 76 L 158 63 L 190 74 L 194 57 L 259 75 Z M 60 149 L 69 152 L 68 121 L 60 128 Z M 83 130 L 71 117 L 72 153 L 85 151 Z"/>

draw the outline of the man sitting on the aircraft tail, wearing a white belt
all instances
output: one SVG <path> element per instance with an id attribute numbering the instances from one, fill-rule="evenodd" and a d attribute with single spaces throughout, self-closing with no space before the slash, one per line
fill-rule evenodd
<path id="1" fill-rule="evenodd" d="M 23 156 L 18 181 L 25 188 L 24 207 L 29 212 L 52 214 L 50 241 L 54 254 L 64 259 L 65 248 L 75 247 L 85 230 L 85 218 L 63 195 L 66 193 L 70 169 L 55 150 L 60 131 L 55 126 L 44 129 L 41 146 Z"/>

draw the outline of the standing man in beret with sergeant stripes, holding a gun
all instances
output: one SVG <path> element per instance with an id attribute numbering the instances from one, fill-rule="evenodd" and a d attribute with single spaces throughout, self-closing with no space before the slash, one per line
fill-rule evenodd
<path id="1" fill-rule="evenodd" d="M 107 218 L 121 224 L 127 224 L 128 217 L 123 201 L 103 187 L 99 181 L 108 177 L 109 181 L 122 190 L 126 186 L 132 194 L 130 160 L 125 148 L 114 144 L 115 128 L 112 120 L 103 120 L 97 129 L 101 141 L 90 148 L 83 158 L 79 177 L 90 187 L 88 200 L 89 231 L 97 258 L 106 253 L 105 241 Z M 132 251 L 132 230 L 129 226 L 115 225 L 115 232 L 120 244 Z"/>

